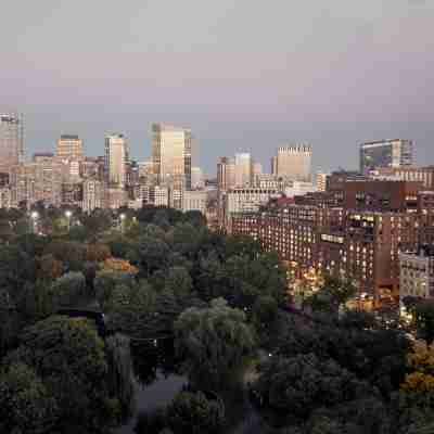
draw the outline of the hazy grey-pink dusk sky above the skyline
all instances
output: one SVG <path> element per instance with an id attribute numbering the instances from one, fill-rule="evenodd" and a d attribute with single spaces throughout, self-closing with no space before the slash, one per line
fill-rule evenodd
<path id="1" fill-rule="evenodd" d="M 199 162 L 310 142 L 314 169 L 358 167 L 358 144 L 417 143 L 434 164 L 432 0 L 14 0 L 0 15 L 0 111 L 27 155 L 78 133 L 151 154 L 150 126 L 192 129 Z"/>

